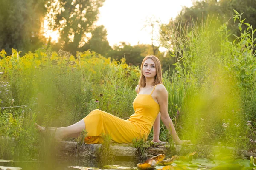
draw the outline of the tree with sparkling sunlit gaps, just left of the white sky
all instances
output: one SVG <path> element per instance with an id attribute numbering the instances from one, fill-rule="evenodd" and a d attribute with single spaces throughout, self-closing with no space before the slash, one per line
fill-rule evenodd
<path id="1" fill-rule="evenodd" d="M 75 54 L 89 39 L 98 20 L 99 7 L 105 0 L 50 0 L 48 6 L 49 26 L 60 32 L 59 45 Z"/>

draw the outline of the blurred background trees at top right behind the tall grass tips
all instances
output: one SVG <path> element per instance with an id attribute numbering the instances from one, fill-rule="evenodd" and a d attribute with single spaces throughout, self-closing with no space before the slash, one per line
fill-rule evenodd
<path id="1" fill-rule="evenodd" d="M 186 48 L 182 45 L 179 45 L 176 37 L 187 36 L 190 34 L 192 27 L 198 26 L 203 28 L 204 24 L 210 24 L 207 29 L 217 29 L 223 23 L 228 22 L 227 28 L 230 30 L 229 33 L 236 34 L 240 36 L 240 30 L 238 29 L 238 20 L 233 22 L 233 14 L 235 9 L 240 14 L 244 12 L 243 18 L 246 23 L 249 23 L 256 28 L 256 3 L 255 0 L 201 0 L 195 1 L 193 6 L 183 7 L 180 14 L 174 19 L 170 20 L 169 24 L 163 24 L 160 29 L 160 37 L 162 44 L 169 49 L 169 54 L 172 54 L 172 47 L 176 43 L 176 48 Z M 202 24 L 203 23 L 203 24 Z M 247 26 L 243 25 L 243 30 Z M 213 32 L 212 30 L 208 30 Z M 256 35 L 254 35 L 256 37 Z M 217 35 L 212 36 L 212 41 L 210 42 L 212 49 L 218 51 L 220 37 Z M 234 36 L 229 36 L 230 40 L 235 39 Z M 183 43 L 183 42 L 181 42 Z M 183 51 L 180 49 L 180 51 Z M 177 52 L 177 51 L 176 51 Z M 177 53 L 176 55 L 179 55 Z"/>

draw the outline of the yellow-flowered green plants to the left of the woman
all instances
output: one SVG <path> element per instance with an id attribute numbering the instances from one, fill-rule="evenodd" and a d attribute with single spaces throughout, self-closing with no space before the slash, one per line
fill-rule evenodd
<path id="1" fill-rule="evenodd" d="M 0 131 L 3 136 L 15 137 L 17 142 L 16 145 L 1 142 L 9 148 L 0 150 L 5 158 L 14 156 L 13 150 L 20 151 L 23 159 L 47 159 L 54 155 L 54 150 L 52 154 L 47 153 L 54 144 L 46 139 L 38 141 L 35 122 L 67 126 L 96 108 L 122 118 L 133 112 L 134 82 L 140 71 L 127 65 L 125 59 L 111 62 L 95 52 L 73 56 L 67 51 L 57 53 L 45 47 L 24 56 L 14 49 L 10 56 L 5 51 L 0 55 L 3 58 L 0 60 L 0 72 L 3 72 L 0 74 Z M 21 107 L 6 108 L 12 106 Z"/>

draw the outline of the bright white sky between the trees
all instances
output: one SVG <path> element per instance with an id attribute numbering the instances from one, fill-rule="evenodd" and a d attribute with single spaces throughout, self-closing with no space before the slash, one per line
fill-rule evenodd
<path id="1" fill-rule="evenodd" d="M 99 8 L 96 25 L 105 26 L 111 46 L 119 42 L 151 44 L 151 28 L 145 27 L 147 21 L 169 23 L 182 6 L 192 6 L 192 0 L 106 0 Z M 157 45 L 157 31 L 154 32 L 154 45 Z"/>

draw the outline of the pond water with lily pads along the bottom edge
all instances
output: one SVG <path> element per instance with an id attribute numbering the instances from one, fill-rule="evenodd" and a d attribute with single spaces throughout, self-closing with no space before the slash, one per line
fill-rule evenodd
<path id="1" fill-rule="evenodd" d="M 183 156 L 184 157 L 184 156 Z M 226 160 L 225 160 L 226 159 Z M 256 159 L 256 158 L 253 158 Z M 162 166 L 157 165 L 154 169 L 163 169 L 163 170 L 256 170 L 256 160 L 249 159 L 191 159 L 191 160 L 174 160 L 169 162 L 169 165 Z M 148 161 L 150 162 L 150 161 Z M 147 163 L 148 163 L 147 162 Z M 254 162 L 254 163 L 253 163 Z M 100 169 L 125 169 L 128 167 L 130 169 L 136 169 L 139 159 L 134 157 L 116 157 L 114 161 L 108 161 L 103 164 L 97 159 L 71 159 L 67 157 L 51 159 L 50 161 L 13 161 L 13 162 L 0 162 L 1 166 L 10 166 L 10 167 L 20 167 L 23 170 L 77 170 L 86 169 L 85 167 L 93 167 Z M 111 167 L 105 165 L 119 165 L 120 167 Z M 84 167 L 84 168 L 83 168 Z M 0 168 L 1 169 L 1 168 Z"/>

